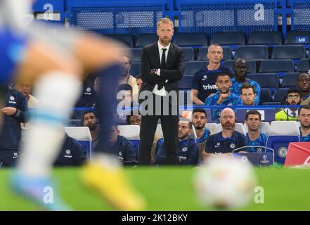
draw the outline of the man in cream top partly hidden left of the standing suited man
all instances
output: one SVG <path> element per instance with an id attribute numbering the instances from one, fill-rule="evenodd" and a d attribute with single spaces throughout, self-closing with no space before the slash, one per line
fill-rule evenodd
<path id="1" fill-rule="evenodd" d="M 138 102 L 138 84 L 137 84 L 137 80 L 136 78 L 134 78 L 134 76 L 129 75 L 129 71 L 131 68 L 131 60 L 129 58 L 129 56 L 123 56 L 123 65 L 122 65 L 122 75 L 120 77 L 120 80 L 118 82 L 118 85 L 121 84 L 129 84 L 132 88 L 132 96 L 133 99 Z"/>

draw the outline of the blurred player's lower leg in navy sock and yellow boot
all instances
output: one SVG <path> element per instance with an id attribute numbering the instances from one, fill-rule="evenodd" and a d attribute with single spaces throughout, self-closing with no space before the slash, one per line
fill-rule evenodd
<path id="1" fill-rule="evenodd" d="M 100 142 L 98 143 L 101 149 L 108 146 L 112 125 L 111 106 L 115 105 L 115 87 L 120 71 L 120 66 L 115 65 L 99 72 L 101 90 L 96 108 L 99 122 L 101 122 Z M 92 163 L 82 169 L 82 181 L 120 210 L 142 210 L 145 206 L 143 198 L 134 191 L 124 174 L 122 165 L 114 155 L 97 155 Z"/>

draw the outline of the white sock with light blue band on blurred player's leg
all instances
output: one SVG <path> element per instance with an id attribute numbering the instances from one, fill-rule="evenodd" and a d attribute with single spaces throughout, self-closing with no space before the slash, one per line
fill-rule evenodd
<path id="1" fill-rule="evenodd" d="M 63 144 L 63 123 L 69 119 L 80 94 L 79 81 L 63 72 L 51 72 L 35 84 L 39 100 L 32 128 L 24 132 L 18 171 L 27 176 L 48 176 Z"/>

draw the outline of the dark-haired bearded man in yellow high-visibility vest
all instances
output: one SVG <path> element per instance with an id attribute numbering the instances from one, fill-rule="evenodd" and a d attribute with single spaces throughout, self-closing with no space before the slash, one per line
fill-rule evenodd
<path id="1" fill-rule="evenodd" d="M 302 99 L 300 97 L 300 90 L 296 87 L 288 89 L 288 94 L 286 94 L 286 102 L 288 105 L 300 105 Z M 298 107 L 285 108 L 276 113 L 277 121 L 297 121 L 298 119 Z"/>

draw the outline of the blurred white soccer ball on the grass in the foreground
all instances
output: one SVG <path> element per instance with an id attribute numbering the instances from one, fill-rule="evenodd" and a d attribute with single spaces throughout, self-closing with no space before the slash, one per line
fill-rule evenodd
<path id="1" fill-rule="evenodd" d="M 250 162 L 227 156 L 209 157 L 193 181 L 199 202 L 218 209 L 244 207 L 253 199 L 257 185 Z"/>

